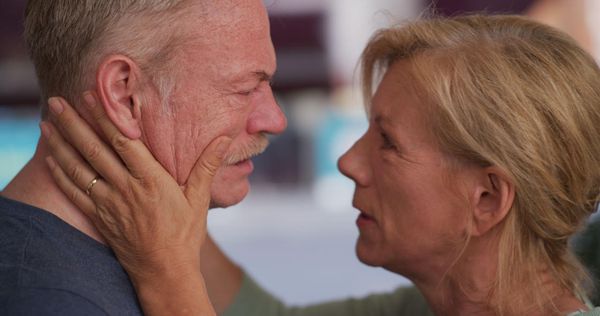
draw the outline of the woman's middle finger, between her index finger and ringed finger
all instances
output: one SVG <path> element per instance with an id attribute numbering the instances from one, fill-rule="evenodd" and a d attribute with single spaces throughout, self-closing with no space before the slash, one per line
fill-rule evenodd
<path id="1" fill-rule="evenodd" d="M 121 160 L 96 135 L 92 128 L 73 110 L 66 100 L 53 97 L 48 100 L 51 119 L 60 134 L 108 182 L 115 186 L 127 181 L 128 172 Z M 62 145 L 61 145 L 62 146 Z M 64 146 L 57 147 L 58 151 Z"/>

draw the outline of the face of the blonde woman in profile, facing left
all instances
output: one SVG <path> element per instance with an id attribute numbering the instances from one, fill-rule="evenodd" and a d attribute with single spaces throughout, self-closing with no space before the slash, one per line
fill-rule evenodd
<path id="1" fill-rule="evenodd" d="M 468 210 L 458 193 L 464 179 L 450 172 L 435 144 L 408 67 L 390 67 L 373 98 L 369 129 L 338 165 L 356 185 L 357 256 L 410 277 L 457 258 Z"/>

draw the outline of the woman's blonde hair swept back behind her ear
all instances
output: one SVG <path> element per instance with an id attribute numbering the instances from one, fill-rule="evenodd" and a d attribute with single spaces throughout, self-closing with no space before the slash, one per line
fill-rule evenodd
<path id="1" fill-rule="evenodd" d="M 567 35 L 522 17 L 424 19 L 373 36 L 362 57 L 367 104 L 399 60 L 410 60 L 442 151 L 497 166 L 515 186 L 488 293 L 496 312 L 521 314 L 531 302 L 546 308 L 542 268 L 564 290 L 582 291 L 585 270 L 568 241 L 599 200 L 600 70 L 593 58 Z"/>

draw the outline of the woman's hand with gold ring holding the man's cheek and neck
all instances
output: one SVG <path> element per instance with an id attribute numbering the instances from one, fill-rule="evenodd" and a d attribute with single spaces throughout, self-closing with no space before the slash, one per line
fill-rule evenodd
<path id="1" fill-rule="evenodd" d="M 121 134 L 94 94 L 88 92 L 84 99 L 114 151 L 64 99 L 51 98 L 53 123 L 41 126 L 56 183 L 113 249 L 146 313 L 169 308 L 178 313 L 206 311 L 192 299 L 206 299 L 200 248 L 206 236 L 210 185 L 231 139 L 211 142 L 182 189 L 140 140 Z"/>

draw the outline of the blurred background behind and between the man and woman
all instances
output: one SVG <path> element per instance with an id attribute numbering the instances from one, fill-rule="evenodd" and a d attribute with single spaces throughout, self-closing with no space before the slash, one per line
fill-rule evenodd
<path id="1" fill-rule="evenodd" d="M 25 0 L 0 1 L 0 189 L 33 154 L 38 90 L 21 37 Z M 374 30 L 423 12 L 526 14 L 598 57 L 600 0 L 265 0 L 288 130 L 255 159 L 252 192 L 209 215 L 224 250 L 287 303 L 391 290 L 408 281 L 354 255 L 353 184 L 337 158 L 366 130 L 355 69 Z"/>

